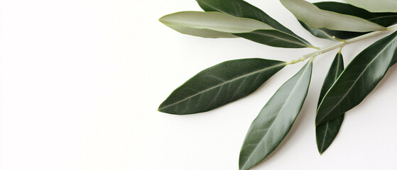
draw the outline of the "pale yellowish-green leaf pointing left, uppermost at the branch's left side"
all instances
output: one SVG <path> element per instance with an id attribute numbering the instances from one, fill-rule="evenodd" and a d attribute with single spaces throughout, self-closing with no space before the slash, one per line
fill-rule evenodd
<path id="1" fill-rule="evenodd" d="M 214 38 L 212 33 L 249 33 L 254 30 L 274 30 L 266 23 L 250 18 L 237 18 L 219 12 L 184 11 L 160 18 L 166 26 L 180 33 Z M 193 31 L 194 30 L 194 31 Z M 208 31 L 212 31 L 209 35 Z"/>

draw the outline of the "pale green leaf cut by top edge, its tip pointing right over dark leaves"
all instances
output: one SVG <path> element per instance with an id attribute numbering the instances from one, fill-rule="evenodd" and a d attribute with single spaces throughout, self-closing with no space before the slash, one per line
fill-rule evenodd
<path id="1" fill-rule="evenodd" d="M 324 11 L 317 6 L 303 0 L 280 0 L 281 3 L 298 18 L 308 24 L 310 28 L 327 28 L 329 30 L 347 30 L 367 32 L 372 30 L 386 30 L 379 24 L 366 21 L 356 16 Z"/>

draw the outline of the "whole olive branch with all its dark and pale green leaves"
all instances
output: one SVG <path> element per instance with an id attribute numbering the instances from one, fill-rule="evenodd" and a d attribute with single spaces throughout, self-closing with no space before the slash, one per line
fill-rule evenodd
<path id="1" fill-rule="evenodd" d="M 158 111 L 175 115 L 211 111 L 253 93 L 289 64 L 308 60 L 251 123 L 241 147 L 239 169 L 251 169 L 262 162 L 288 134 L 308 94 L 316 57 L 340 48 L 330 64 L 317 103 L 315 128 L 320 154 L 337 136 L 344 114 L 359 105 L 397 62 L 395 1 L 280 1 L 312 35 L 337 43 L 315 47 L 243 0 L 197 0 L 204 11 L 183 11 L 160 18 L 180 33 L 202 38 L 245 38 L 273 47 L 316 49 L 290 62 L 260 58 L 222 62 L 187 80 L 159 106 Z M 344 68 L 342 47 L 386 32 L 394 33 L 366 47 Z"/>

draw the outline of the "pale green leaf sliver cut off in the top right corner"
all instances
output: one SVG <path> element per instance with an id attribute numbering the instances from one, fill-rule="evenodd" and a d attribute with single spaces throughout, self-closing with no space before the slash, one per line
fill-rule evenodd
<path id="1" fill-rule="evenodd" d="M 396 0 L 344 0 L 371 12 L 397 12 Z"/>

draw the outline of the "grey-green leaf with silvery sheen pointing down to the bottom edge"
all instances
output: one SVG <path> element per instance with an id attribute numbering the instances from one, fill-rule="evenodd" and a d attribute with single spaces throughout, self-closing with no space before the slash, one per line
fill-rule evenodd
<path id="1" fill-rule="evenodd" d="M 251 169 L 265 159 L 290 131 L 303 106 L 312 75 L 308 62 L 276 91 L 252 122 L 241 147 L 239 167 Z"/>

